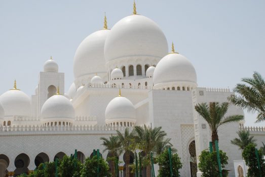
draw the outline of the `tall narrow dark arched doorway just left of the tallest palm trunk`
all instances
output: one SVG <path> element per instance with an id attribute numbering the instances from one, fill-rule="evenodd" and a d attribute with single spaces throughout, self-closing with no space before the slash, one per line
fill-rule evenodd
<path id="1" fill-rule="evenodd" d="M 188 152 L 190 153 L 190 171 L 191 176 L 197 176 L 197 160 L 196 160 L 196 146 L 195 140 L 188 145 Z"/>

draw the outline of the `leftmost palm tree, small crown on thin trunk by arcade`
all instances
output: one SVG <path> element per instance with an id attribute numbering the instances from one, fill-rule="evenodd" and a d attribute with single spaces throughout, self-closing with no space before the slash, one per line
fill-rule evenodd
<path id="1" fill-rule="evenodd" d="M 105 146 L 105 149 L 103 150 L 103 152 L 108 150 L 108 153 L 110 154 L 110 156 L 112 158 L 115 158 L 116 156 L 119 157 L 119 148 L 121 146 L 119 139 L 117 136 L 112 136 L 109 137 L 109 139 L 106 139 L 104 137 L 101 137 L 100 140 L 103 140 L 103 143 L 101 145 Z M 116 172 L 119 171 L 115 171 L 115 161 L 111 160 L 111 174 L 112 176 L 116 176 Z"/>

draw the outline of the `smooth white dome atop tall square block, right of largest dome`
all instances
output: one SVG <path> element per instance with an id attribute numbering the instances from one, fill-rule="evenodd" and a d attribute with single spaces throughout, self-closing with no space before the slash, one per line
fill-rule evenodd
<path id="1" fill-rule="evenodd" d="M 154 71 L 154 86 L 169 82 L 188 82 L 197 85 L 193 64 L 184 56 L 170 53 L 160 60 Z"/>

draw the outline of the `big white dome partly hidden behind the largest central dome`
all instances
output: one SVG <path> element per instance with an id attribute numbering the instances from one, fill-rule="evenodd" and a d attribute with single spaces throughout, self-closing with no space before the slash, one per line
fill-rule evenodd
<path id="1" fill-rule="evenodd" d="M 88 74 L 106 73 L 104 45 L 110 30 L 98 30 L 87 36 L 74 55 L 73 73 L 78 78 Z"/>

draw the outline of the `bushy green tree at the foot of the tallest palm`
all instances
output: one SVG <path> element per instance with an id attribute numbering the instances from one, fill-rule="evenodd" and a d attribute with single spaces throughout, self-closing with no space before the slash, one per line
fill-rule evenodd
<path id="1" fill-rule="evenodd" d="M 219 150 L 220 161 L 222 169 L 225 165 L 228 164 L 228 156 L 222 150 Z M 217 163 L 216 151 L 210 153 L 207 150 L 203 150 L 199 156 L 199 169 L 202 172 L 202 177 L 218 177 L 219 176 L 219 168 Z M 226 176 L 225 173 L 227 170 L 222 170 L 223 176 Z"/>

